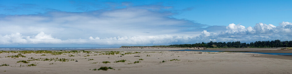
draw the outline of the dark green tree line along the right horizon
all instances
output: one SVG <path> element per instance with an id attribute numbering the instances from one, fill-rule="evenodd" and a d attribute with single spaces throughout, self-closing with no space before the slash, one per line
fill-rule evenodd
<path id="1" fill-rule="evenodd" d="M 173 44 L 168 45 L 169 47 L 207 47 L 207 48 L 243 48 L 243 47 L 292 47 L 292 41 L 281 41 L 281 40 L 272 40 L 272 41 L 256 41 L 251 43 L 240 43 L 236 42 L 209 42 L 209 43 L 195 43 L 195 44 Z"/>

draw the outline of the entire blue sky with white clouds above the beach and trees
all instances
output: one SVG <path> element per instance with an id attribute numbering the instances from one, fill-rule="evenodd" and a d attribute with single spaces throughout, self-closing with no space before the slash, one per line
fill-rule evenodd
<path id="1" fill-rule="evenodd" d="M 292 40 L 291 0 L 0 0 L 0 47 Z"/>

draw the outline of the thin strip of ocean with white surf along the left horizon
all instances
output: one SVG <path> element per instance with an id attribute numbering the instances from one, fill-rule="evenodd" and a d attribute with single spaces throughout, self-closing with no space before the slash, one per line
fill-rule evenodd
<path id="1" fill-rule="evenodd" d="M 86 49 L 112 49 L 112 47 L 94 47 L 94 48 L 0 48 L 0 50 L 86 50 Z"/>

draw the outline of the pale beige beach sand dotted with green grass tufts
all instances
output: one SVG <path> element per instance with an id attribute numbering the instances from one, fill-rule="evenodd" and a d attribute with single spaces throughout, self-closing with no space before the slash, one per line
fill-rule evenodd
<path id="1" fill-rule="evenodd" d="M 292 60 L 290 56 L 281 58 L 281 55 L 263 55 L 254 53 L 239 52 L 202 52 L 200 51 L 159 51 L 142 49 L 113 49 L 123 51 L 117 55 L 99 55 L 101 53 L 64 53 L 66 55 L 45 54 L 22 54 L 26 57 L 10 58 L 9 55 L 18 53 L 1 53 L 0 74 L 291 74 Z M 105 49 L 102 51 L 113 51 Z M 97 51 L 97 50 L 90 50 Z M 100 51 L 100 50 L 98 50 Z M 125 54 L 126 52 L 140 52 L 135 54 Z M 125 54 L 125 55 L 121 55 Z M 74 55 L 69 57 L 69 55 Z M 89 56 L 87 56 L 89 55 Z M 147 56 L 148 55 L 148 56 Z M 84 57 L 86 56 L 86 57 Z M 122 56 L 122 57 L 120 57 Z M 140 56 L 140 57 L 134 57 Z M 29 58 L 65 58 L 72 60 L 69 62 L 61 61 L 29 61 L 17 63 L 20 60 L 32 60 Z M 290 57 L 292 58 L 292 57 Z M 73 60 L 74 59 L 74 60 Z M 90 60 L 93 59 L 93 60 Z M 143 59 L 143 60 L 139 60 Z M 177 60 L 173 60 L 177 59 Z M 78 62 L 75 62 L 77 60 Z M 118 60 L 127 60 L 117 62 Z M 163 62 L 162 61 L 166 61 Z M 170 61 L 173 60 L 173 61 Z M 111 63 L 104 64 L 103 61 Z M 134 63 L 139 61 L 139 63 Z M 96 64 L 92 64 L 97 62 Z M 52 64 L 53 63 L 53 64 Z M 22 65 L 22 66 L 20 66 Z M 92 70 L 101 66 L 112 67 L 108 71 Z"/>

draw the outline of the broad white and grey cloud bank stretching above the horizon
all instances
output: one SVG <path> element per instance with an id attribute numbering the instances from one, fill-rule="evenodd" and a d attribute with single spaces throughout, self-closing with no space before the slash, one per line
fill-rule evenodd
<path id="1" fill-rule="evenodd" d="M 0 18 L 0 45 L 92 44 L 169 45 L 201 42 L 291 40 L 292 23 L 279 26 L 231 23 L 208 26 L 176 15 L 165 6 L 127 6 L 90 12 L 48 12 Z"/>

